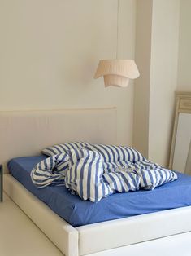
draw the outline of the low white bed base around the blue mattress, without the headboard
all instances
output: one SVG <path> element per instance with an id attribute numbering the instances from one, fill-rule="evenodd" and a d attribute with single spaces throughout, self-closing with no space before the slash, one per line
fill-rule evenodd
<path id="1" fill-rule="evenodd" d="M 11 174 L 4 175 L 4 189 L 67 256 L 191 254 L 191 206 L 75 228 L 54 214 Z"/>

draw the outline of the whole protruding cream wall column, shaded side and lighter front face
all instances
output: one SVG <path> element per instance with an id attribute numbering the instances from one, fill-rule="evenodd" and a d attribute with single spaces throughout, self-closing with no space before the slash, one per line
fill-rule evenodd
<path id="1" fill-rule="evenodd" d="M 167 166 L 171 144 L 180 0 L 137 0 L 136 81 L 133 145 Z"/>

